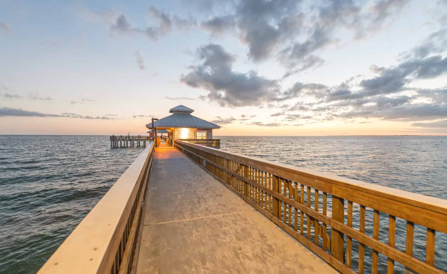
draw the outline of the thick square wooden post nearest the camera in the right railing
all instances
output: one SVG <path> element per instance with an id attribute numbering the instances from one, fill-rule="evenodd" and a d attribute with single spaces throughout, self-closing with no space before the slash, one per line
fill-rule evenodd
<path id="1" fill-rule="evenodd" d="M 337 196 L 332 196 L 332 219 L 342 224 L 345 222 L 345 200 Z M 331 253 L 340 262 L 344 262 L 344 235 L 335 229 L 331 233 Z"/>

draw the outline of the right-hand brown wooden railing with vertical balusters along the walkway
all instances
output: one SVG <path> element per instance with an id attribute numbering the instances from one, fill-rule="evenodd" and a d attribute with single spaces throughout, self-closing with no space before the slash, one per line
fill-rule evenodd
<path id="1" fill-rule="evenodd" d="M 445 246 L 435 250 L 435 233 L 446 239 L 446 200 L 179 140 L 174 146 L 342 273 L 391 274 L 398 263 L 409 273 L 446 273 L 445 263 L 435 266 L 435 251 L 447 256 Z M 424 257 L 413 255 L 416 226 Z"/>

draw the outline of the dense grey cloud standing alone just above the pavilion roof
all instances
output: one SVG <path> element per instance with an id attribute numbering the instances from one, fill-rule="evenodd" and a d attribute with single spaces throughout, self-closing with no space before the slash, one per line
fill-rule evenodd
<path id="1" fill-rule="evenodd" d="M 201 46 L 196 55 L 202 62 L 197 66 L 190 66 L 190 72 L 182 75 L 180 81 L 190 87 L 209 91 L 206 96 L 208 100 L 221 106 L 259 105 L 279 91 L 277 80 L 258 76 L 254 71 L 233 71 L 232 64 L 236 57 L 220 45 Z"/>

